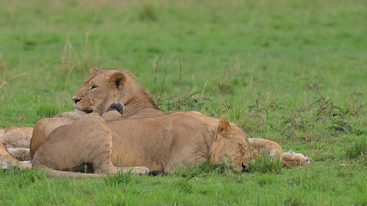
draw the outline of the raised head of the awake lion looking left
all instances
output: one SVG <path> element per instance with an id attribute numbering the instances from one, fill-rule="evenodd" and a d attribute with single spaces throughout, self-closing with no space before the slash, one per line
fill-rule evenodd
<path id="1" fill-rule="evenodd" d="M 91 73 L 84 86 L 73 96 L 75 112 L 80 115 L 92 113 L 94 110 L 104 113 L 126 82 L 134 79 L 134 76 L 122 69 L 98 70 L 94 66 Z"/>

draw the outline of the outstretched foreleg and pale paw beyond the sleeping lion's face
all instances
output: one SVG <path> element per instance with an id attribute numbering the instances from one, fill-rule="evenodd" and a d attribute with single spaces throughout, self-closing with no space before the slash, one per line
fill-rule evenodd
<path id="1" fill-rule="evenodd" d="M 283 149 L 275 141 L 261 138 L 248 138 L 248 142 L 255 150 L 258 150 L 258 153 L 261 155 L 269 155 L 274 158 L 279 157 L 281 162 L 283 162 L 284 168 L 311 165 L 308 157 L 305 157 L 301 153 L 295 153 L 292 150 L 283 152 Z"/>

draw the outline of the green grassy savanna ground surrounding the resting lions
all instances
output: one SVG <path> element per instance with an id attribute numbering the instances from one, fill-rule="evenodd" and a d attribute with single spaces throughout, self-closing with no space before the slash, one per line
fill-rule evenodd
<path id="1" fill-rule="evenodd" d="M 73 111 L 93 65 L 122 67 L 167 112 L 227 115 L 312 161 L 120 180 L 11 169 L 0 205 L 367 204 L 366 1 L 0 2 L 0 127 Z"/>

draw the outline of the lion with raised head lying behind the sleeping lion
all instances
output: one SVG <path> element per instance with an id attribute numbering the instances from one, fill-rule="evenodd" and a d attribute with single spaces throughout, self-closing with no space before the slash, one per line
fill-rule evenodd
<path id="1" fill-rule="evenodd" d="M 97 111 L 98 115 L 103 116 L 105 120 L 166 115 L 154 103 L 147 89 L 141 87 L 129 71 L 98 70 L 94 66 L 91 73 L 92 75 L 84 82 L 84 86 L 73 96 L 75 112 L 63 113 L 37 122 L 30 141 L 32 158 L 52 130 L 62 125 L 72 124 L 88 115 L 94 115 L 93 111 Z"/>

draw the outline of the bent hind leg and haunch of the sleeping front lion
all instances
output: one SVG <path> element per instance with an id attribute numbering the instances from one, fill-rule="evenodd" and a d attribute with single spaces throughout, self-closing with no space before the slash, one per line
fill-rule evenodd
<path id="1" fill-rule="evenodd" d="M 97 115 L 91 115 L 54 129 L 33 157 L 33 163 L 70 171 L 89 163 L 94 173 L 117 173 L 111 162 L 112 137 L 109 126 Z M 148 168 L 132 168 L 132 173 L 147 174 Z"/>

